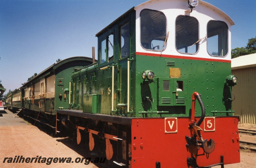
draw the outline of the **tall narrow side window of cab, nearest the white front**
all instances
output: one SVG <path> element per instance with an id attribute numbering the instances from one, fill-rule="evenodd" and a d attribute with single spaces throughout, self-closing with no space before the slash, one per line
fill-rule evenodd
<path id="1" fill-rule="evenodd" d="M 121 26 L 121 58 L 127 57 L 130 55 L 130 29 L 129 23 Z"/>

